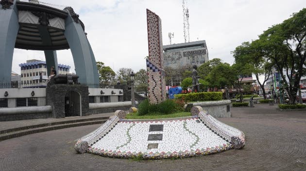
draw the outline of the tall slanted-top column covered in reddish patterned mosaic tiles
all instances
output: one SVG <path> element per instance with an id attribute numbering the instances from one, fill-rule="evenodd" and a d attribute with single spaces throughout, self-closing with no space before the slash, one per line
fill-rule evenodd
<path id="1" fill-rule="evenodd" d="M 147 9 L 148 47 L 149 58 L 147 62 L 148 92 L 151 104 L 166 100 L 165 71 L 163 70 L 163 42 L 161 32 L 161 19 L 158 15 Z"/>

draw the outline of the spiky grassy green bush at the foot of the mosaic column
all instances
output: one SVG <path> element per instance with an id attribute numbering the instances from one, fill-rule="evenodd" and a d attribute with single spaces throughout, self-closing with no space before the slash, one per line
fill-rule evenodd
<path id="1" fill-rule="evenodd" d="M 152 113 L 160 113 L 160 114 L 171 114 L 173 112 L 183 112 L 184 99 L 182 100 L 165 100 L 158 104 L 150 104 L 149 100 L 144 100 L 138 105 L 138 114 L 152 114 Z"/>

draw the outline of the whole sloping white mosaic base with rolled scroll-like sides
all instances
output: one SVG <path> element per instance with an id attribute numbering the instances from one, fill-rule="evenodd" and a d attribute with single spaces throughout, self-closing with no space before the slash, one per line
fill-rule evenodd
<path id="1" fill-rule="evenodd" d="M 240 130 L 201 107 L 191 112 L 193 116 L 184 118 L 126 120 L 123 111 L 116 111 L 100 128 L 78 140 L 75 149 L 104 157 L 161 159 L 204 156 L 244 146 Z"/>

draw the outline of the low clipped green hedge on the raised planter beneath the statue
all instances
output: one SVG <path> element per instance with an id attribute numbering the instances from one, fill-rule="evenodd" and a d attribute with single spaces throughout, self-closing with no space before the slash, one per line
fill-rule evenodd
<path id="1" fill-rule="evenodd" d="M 186 101 L 215 101 L 222 100 L 222 92 L 176 94 L 174 97 L 178 100 L 184 98 Z"/>

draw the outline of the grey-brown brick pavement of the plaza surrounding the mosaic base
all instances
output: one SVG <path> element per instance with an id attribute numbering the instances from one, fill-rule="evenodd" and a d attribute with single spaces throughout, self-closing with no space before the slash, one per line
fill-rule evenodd
<path id="1" fill-rule="evenodd" d="M 306 170 L 306 112 L 280 112 L 276 105 L 232 108 L 232 118 L 218 118 L 242 130 L 246 145 L 204 157 L 143 160 L 77 154 L 75 140 L 100 125 L 66 128 L 0 142 L 0 171 L 126 170 Z"/>

